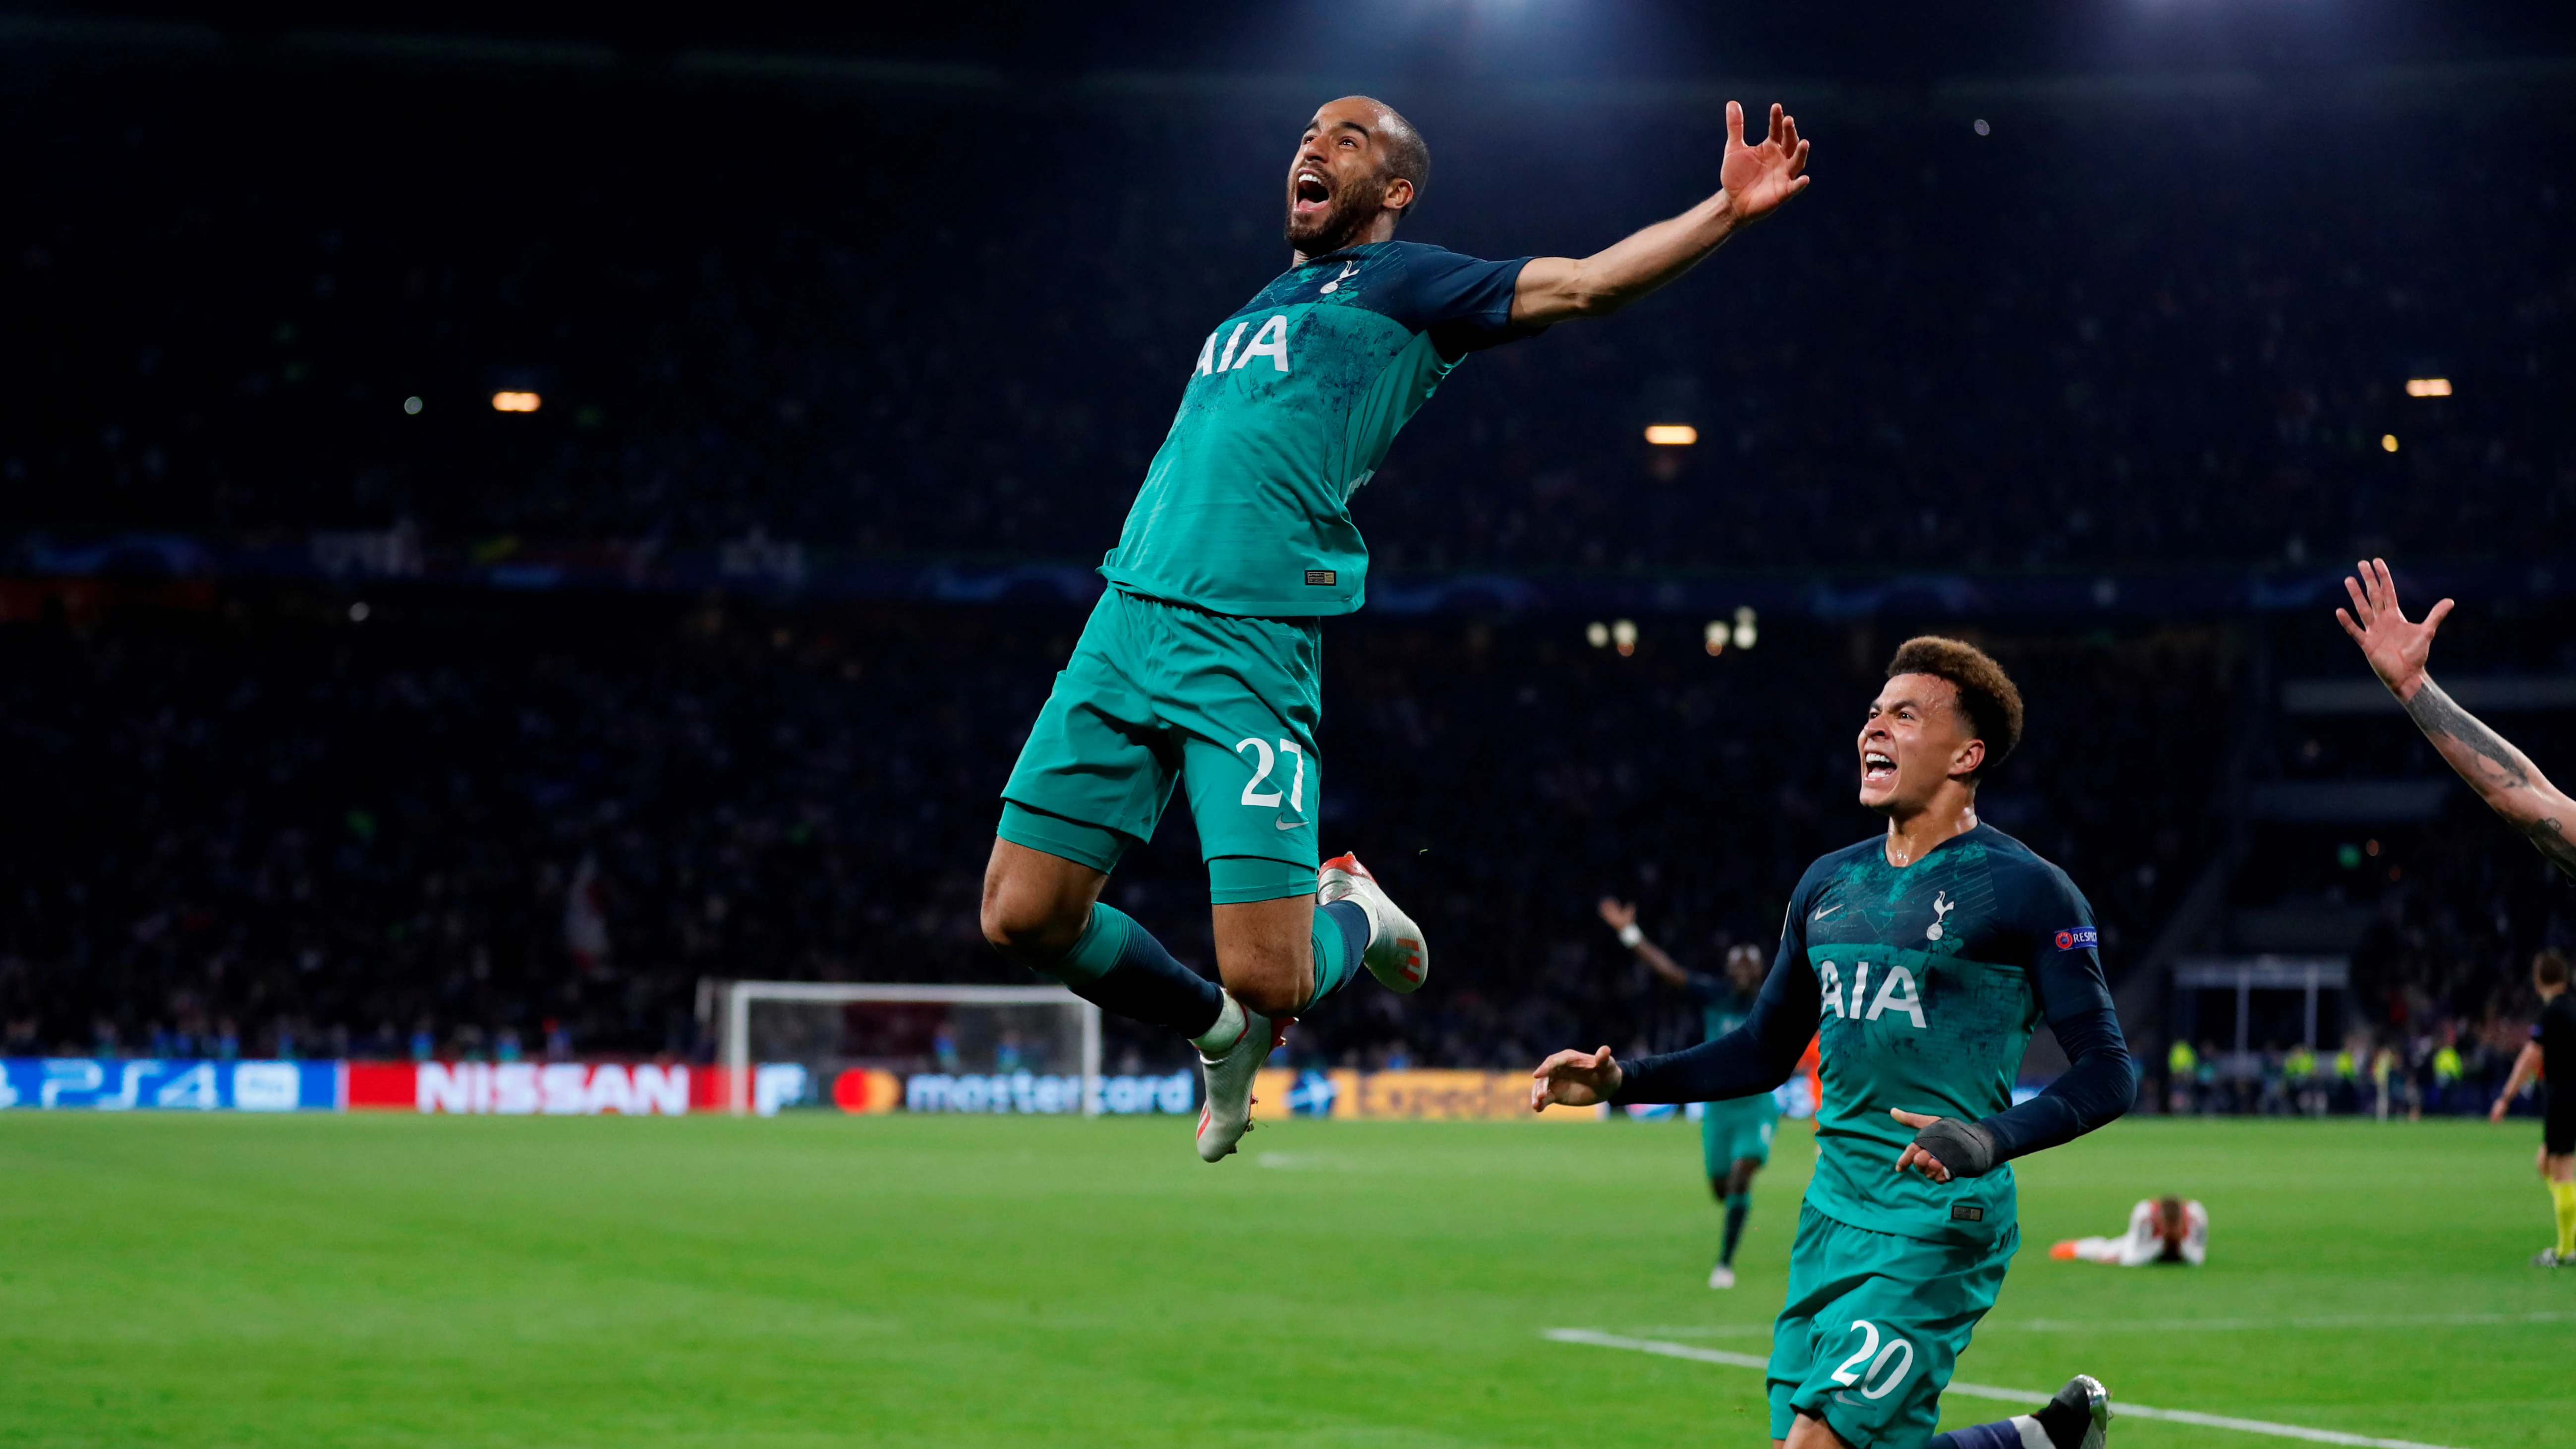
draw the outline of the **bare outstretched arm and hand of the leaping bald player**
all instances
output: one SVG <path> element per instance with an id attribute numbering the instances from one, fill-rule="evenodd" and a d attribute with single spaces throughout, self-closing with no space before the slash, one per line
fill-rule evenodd
<path id="1" fill-rule="evenodd" d="M 1587 258 L 1530 258 L 1512 291 L 1512 322 L 1551 327 L 1577 317 L 1607 317 L 1700 266 L 1700 258 L 1726 245 L 1726 237 L 1770 217 L 1801 191 L 1806 191 L 1806 142 L 1798 139 L 1798 119 L 1772 106 L 1770 134 L 1744 144 L 1744 106 L 1728 101 L 1718 193 Z"/>

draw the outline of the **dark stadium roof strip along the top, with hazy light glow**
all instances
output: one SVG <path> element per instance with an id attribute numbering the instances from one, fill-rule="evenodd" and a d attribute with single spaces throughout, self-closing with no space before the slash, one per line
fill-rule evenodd
<path id="1" fill-rule="evenodd" d="M 1404 10 L 1404 8 L 1394 8 Z M 1391 13 L 1394 13 L 1391 10 Z M 1832 18 L 1625 5 L 1479 49 L 1492 26 L 1383 21 L 1355 46 L 1280 44 L 1275 23 L 1154 5 L 726 5 L 608 18 L 574 5 L 85 5 L 0 13 L 0 57 L 80 49 L 237 64 L 464 67 L 786 85 L 842 95 L 1064 106 L 1306 103 L 1352 88 L 1484 106 L 1710 108 L 1775 95 L 1842 124 L 1929 113 L 2120 113 L 2177 106 L 2488 106 L 2563 95 L 2576 10 L 2445 5 L 2398 15 L 2233 15 L 2159 36 L 2097 5 L 1981 8 L 1973 23 L 1904 5 Z M 2125 8 L 2136 10 L 2136 8 Z M 2311 28 L 2303 28 L 2311 26 Z M 1298 28 L 1298 26 L 1288 26 Z M 1311 26 L 1309 26 L 1311 28 Z M 1476 31 L 1476 34 L 1471 34 Z"/>

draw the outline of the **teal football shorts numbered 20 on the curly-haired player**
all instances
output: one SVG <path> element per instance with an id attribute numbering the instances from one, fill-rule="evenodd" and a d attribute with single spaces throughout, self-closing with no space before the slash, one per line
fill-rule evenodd
<path id="1" fill-rule="evenodd" d="M 2020 1245 L 2020 1225 L 1968 1248 L 1801 1207 L 1788 1305 L 1772 1325 L 1772 1439 L 1811 1413 L 1852 1449 L 1922 1449 L 1940 1423 L 1940 1390 Z"/>

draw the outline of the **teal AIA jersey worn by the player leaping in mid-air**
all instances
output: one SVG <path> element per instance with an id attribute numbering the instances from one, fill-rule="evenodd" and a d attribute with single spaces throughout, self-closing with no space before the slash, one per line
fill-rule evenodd
<path id="1" fill-rule="evenodd" d="M 1283 271 L 1200 343 L 1103 578 L 1213 614 L 1360 608 L 1350 495 L 1466 353 L 1525 333 L 1525 260 L 1368 242 Z"/>

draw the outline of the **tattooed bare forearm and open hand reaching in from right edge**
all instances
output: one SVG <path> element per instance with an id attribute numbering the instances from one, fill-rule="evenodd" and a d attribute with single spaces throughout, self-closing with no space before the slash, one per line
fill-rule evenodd
<path id="1" fill-rule="evenodd" d="M 2434 603 L 2421 621 L 2411 621 L 2398 608 L 2398 585 L 2388 575 L 2388 562 L 2367 559 L 2357 567 L 2362 578 L 2344 578 L 2352 608 L 2336 608 L 2334 619 L 2362 647 L 2370 673 L 2380 676 L 2388 694 L 2398 696 L 2416 730 L 2424 730 L 2432 748 L 2442 750 L 2450 768 L 2460 771 L 2460 779 L 2478 792 L 2488 810 L 2522 830 L 2553 866 L 2576 874 L 2576 838 L 2571 838 L 2576 802 L 2561 794 L 2530 755 L 2460 709 L 2424 673 L 2424 663 L 2432 657 L 2432 634 L 2450 614 L 2450 601 Z"/>

